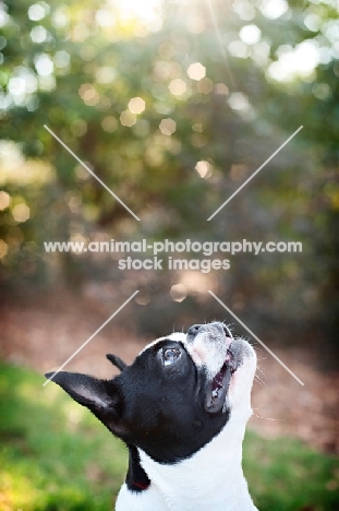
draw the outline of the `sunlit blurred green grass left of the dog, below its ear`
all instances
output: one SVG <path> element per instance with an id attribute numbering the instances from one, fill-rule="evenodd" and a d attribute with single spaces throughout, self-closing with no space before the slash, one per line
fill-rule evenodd
<path id="1" fill-rule="evenodd" d="M 0 367 L 0 510 L 110 510 L 124 445 L 56 384 Z M 7 509 L 7 508 L 4 508 Z"/>

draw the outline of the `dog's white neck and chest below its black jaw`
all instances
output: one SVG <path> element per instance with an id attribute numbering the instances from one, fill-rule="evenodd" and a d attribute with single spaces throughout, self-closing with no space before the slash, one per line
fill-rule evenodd
<path id="1" fill-rule="evenodd" d="M 242 441 L 251 413 L 250 406 L 242 407 L 241 415 L 232 415 L 208 444 L 173 465 L 156 463 L 138 450 L 141 464 L 152 480 L 145 510 L 254 511 L 241 464 Z M 135 494 L 135 499 L 137 509 L 143 511 L 143 492 Z"/>

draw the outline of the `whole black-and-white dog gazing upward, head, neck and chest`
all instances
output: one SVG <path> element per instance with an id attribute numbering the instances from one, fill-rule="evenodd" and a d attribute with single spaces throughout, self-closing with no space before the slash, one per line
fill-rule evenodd
<path id="1" fill-rule="evenodd" d="M 252 415 L 253 347 L 221 322 L 148 344 L 111 380 L 53 380 L 129 449 L 117 511 L 254 511 L 242 471 Z M 52 372 L 47 373 L 51 378 Z"/>

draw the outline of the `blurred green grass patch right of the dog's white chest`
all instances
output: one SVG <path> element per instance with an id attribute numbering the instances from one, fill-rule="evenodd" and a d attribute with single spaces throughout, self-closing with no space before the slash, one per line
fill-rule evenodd
<path id="1" fill-rule="evenodd" d="M 243 467 L 261 511 L 339 511 L 338 457 L 247 431 Z"/>

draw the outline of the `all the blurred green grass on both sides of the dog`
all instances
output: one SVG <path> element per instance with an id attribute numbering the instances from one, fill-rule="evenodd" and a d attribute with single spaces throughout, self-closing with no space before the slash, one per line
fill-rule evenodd
<path id="1" fill-rule="evenodd" d="M 0 510 L 111 510 L 128 453 L 35 372 L 0 366 Z M 290 438 L 250 431 L 244 471 L 261 511 L 338 511 L 339 463 Z M 337 486 L 336 486 L 337 485 Z"/>

